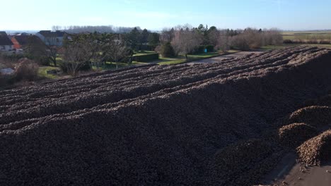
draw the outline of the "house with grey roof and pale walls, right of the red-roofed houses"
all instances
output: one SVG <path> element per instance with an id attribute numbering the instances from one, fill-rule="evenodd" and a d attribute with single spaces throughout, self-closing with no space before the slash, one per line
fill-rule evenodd
<path id="1" fill-rule="evenodd" d="M 37 32 L 37 34 L 35 35 L 39 37 L 42 42 L 49 46 L 62 46 L 63 39 L 66 36 L 66 32 L 62 32 L 59 30 L 55 32 L 52 32 L 50 30 L 42 30 L 40 32 Z"/>

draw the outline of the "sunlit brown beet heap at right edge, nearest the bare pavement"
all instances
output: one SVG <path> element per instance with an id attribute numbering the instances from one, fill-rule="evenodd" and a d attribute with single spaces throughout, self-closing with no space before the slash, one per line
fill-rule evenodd
<path id="1" fill-rule="evenodd" d="M 303 163 L 320 166 L 331 159 L 331 130 L 323 132 L 297 148 L 298 159 Z"/>

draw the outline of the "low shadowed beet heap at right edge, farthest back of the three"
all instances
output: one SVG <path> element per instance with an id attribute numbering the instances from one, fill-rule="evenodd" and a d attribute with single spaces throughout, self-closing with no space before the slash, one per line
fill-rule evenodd
<path id="1" fill-rule="evenodd" d="M 307 123 L 315 127 L 331 125 L 331 107 L 308 106 L 291 113 L 288 123 Z"/>

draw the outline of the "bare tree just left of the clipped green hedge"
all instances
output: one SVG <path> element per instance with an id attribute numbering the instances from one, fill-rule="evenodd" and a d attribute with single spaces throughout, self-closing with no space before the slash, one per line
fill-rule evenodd
<path id="1" fill-rule="evenodd" d="M 116 63 L 116 69 L 118 69 L 118 62 L 122 61 L 129 55 L 129 49 L 127 49 L 127 46 L 120 35 L 111 35 L 106 39 L 103 46 L 103 52 L 105 58 Z"/>

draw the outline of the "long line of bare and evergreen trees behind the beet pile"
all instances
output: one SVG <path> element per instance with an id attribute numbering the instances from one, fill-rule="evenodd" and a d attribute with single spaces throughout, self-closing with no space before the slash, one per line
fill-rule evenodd
<path id="1" fill-rule="evenodd" d="M 54 26 L 54 30 L 63 27 Z M 103 32 L 86 32 L 86 30 L 103 30 Z M 131 28 L 130 28 L 131 29 Z M 71 30 L 73 32 L 68 32 Z M 74 31 L 75 30 L 75 31 Z M 117 28 L 117 31 L 119 28 Z M 105 66 L 106 62 L 131 63 L 135 51 L 156 51 L 163 57 L 183 55 L 204 51 L 227 51 L 228 49 L 257 49 L 265 45 L 282 44 L 281 32 L 277 29 L 257 30 L 220 30 L 217 27 L 200 24 L 178 25 L 151 32 L 134 27 L 127 32 L 116 32 L 112 26 L 105 27 L 66 27 L 63 46 L 50 46 L 37 37 L 29 37 L 23 57 L 36 61 L 39 65 L 59 66 L 62 71 L 77 75 L 79 70 L 91 70 Z M 49 38 L 56 39 L 56 38 Z M 52 43 L 52 42 L 48 42 Z M 3 56 L 17 61 L 22 56 Z M 58 59 L 61 58 L 61 63 Z"/>

